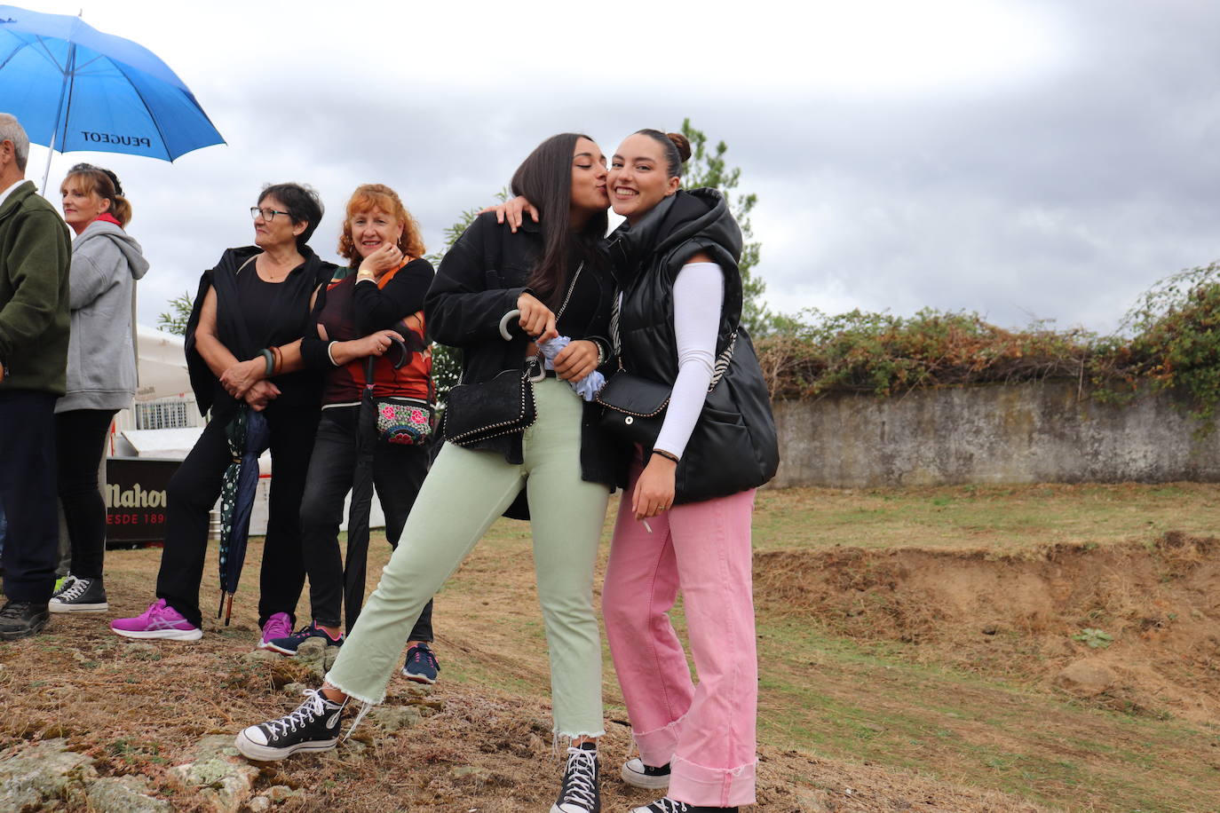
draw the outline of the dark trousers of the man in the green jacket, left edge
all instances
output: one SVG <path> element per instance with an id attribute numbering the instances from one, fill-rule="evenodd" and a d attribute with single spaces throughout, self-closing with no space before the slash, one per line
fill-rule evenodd
<path id="1" fill-rule="evenodd" d="M 60 520 L 55 507 L 55 395 L 0 390 L 0 506 L 4 592 L 46 603 L 55 586 Z"/>

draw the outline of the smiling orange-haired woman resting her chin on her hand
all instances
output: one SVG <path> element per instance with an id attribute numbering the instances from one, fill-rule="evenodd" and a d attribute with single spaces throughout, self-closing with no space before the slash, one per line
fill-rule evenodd
<path id="1" fill-rule="evenodd" d="M 398 546 L 428 470 L 426 439 L 414 444 L 357 439 L 361 431 L 373 431 L 360 421 L 366 384 L 372 384 L 375 399 L 422 405 L 431 403 L 433 394 L 432 351 L 422 312 L 433 271 L 422 257 L 418 225 L 393 189 L 382 184 L 356 189 L 348 201 L 339 254 L 349 267 L 339 268 L 318 295 L 316 333 L 301 343 L 306 367 L 326 371 L 322 418 L 301 500 L 301 552 L 314 618 L 298 633 L 267 642 L 268 648 L 284 655 L 295 655 L 311 637 L 321 637 L 327 646 L 343 644 L 339 611 L 344 575 L 338 534 L 359 441 L 373 444 L 373 483 L 390 546 Z M 349 619 L 356 614 L 359 607 L 348 608 Z M 437 678 L 439 667 L 428 647 L 432 637 L 429 601 L 411 633 L 403 668 L 418 683 Z"/>

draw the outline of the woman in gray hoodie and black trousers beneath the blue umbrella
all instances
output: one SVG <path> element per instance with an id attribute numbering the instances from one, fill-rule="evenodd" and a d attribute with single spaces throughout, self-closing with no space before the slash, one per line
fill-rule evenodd
<path id="1" fill-rule="evenodd" d="M 78 163 L 60 184 L 72 240 L 67 394 L 55 405 L 60 502 L 72 541 L 72 572 L 51 596 L 50 611 L 105 612 L 101 579 L 106 505 L 98 467 L 115 413 L 135 395 L 132 301 L 149 263 L 123 229 L 132 206 L 109 169 Z"/>

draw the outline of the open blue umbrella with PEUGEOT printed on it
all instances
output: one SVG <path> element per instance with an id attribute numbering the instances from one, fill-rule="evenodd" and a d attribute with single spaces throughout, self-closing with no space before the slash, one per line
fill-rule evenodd
<path id="1" fill-rule="evenodd" d="M 52 152 L 173 161 L 224 143 L 190 89 L 152 51 L 79 17 L 17 6 L 0 6 L 0 111 Z M 49 155 L 48 173 L 50 165 Z"/>

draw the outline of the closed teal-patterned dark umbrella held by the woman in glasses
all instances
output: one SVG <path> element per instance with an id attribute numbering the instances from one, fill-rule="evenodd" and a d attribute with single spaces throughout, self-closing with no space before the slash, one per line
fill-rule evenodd
<path id="1" fill-rule="evenodd" d="M 224 469 L 221 486 L 221 606 L 216 617 L 223 613 L 227 627 L 250 539 L 250 509 L 259 488 L 259 456 L 271 445 L 271 430 L 261 412 L 243 403 L 224 427 L 224 435 L 233 462 Z"/>

